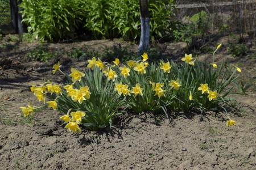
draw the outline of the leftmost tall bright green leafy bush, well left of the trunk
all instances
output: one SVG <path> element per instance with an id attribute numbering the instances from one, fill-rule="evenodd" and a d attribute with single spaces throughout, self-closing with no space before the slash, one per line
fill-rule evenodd
<path id="1" fill-rule="evenodd" d="M 48 40 L 73 37 L 84 18 L 81 0 L 24 0 L 22 22 L 28 25 L 28 32 Z"/>

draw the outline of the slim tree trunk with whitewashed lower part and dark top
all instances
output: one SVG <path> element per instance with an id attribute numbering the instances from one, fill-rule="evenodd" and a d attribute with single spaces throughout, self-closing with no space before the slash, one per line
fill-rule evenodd
<path id="1" fill-rule="evenodd" d="M 150 42 L 150 14 L 148 11 L 148 1 L 139 0 L 141 10 L 141 40 L 139 41 L 139 51 L 149 48 Z"/>

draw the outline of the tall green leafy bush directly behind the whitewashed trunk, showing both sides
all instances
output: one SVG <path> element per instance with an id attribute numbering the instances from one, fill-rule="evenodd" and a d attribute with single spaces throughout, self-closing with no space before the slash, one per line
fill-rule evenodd
<path id="1" fill-rule="evenodd" d="M 112 38 L 121 35 L 124 39 L 138 40 L 140 31 L 139 3 L 136 0 L 97 0 L 88 1 L 86 11 L 86 28 L 93 31 L 94 36 Z M 170 31 L 171 14 L 174 1 L 150 1 L 151 38 L 159 39 Z M 95 15 L 97 14 L 97 15 Z"/>

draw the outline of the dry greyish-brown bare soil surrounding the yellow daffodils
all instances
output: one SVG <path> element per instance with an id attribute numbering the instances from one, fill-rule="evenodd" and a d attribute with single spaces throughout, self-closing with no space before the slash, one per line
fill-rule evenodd
<path id="1" fill-rule="evenodd" d="M 121 41 L 49 46 L 64 49 L 90 44 L 102 50 L 116 42 Z M 236 126 L 226 127 L 224 113 L 172 114 L 171 121 L 126 113 L 114 120 L 113 128 L 73 134 L 59 120 L 63 113 L 52 109 L 40 109 L 31 121 L 21 117 L 19 107 L 41 104 L 30 92 L 31 84 L 63 80 L 60 74 L 51 74 L 53 62 L 24 61 L 22 57 L 34 46 L 20 44 L 0 53 L 2 58 L 8 56 L 9 63 L 0 70 L 0 169 L 256 169 L 255 59 L 232 58 L 226 52 L 216 56 L 241 65 L 243 79 L 253 84 L 248 95 L 232 94 L 238 102 L 229 116 Z M 166 53 L 180 59 L 184 46 L 182 42 L 167 44 Z M 65 69 L 86 63 L 65 59 Z"/>

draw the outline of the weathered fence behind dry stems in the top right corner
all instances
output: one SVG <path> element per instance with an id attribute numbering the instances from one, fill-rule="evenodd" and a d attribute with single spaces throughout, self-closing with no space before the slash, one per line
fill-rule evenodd
<path id="1" fill-rule="evenodd" d="M 176 18 L 207 12 L 211 31 L 256 34 L 255 0 L 177 0 Z M 221 30 L 220 30 L 221 29 Z"/>

